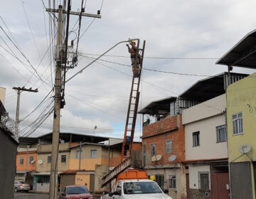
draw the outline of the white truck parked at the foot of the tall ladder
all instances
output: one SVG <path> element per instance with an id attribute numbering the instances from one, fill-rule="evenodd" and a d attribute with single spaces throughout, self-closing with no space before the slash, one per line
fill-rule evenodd
<path id="1" fill-rule="evenodd" d="M 159 185 L 148 179 L 120 180 L 112 193 L 103 193 L 102 199 L 172 199 Z"/>

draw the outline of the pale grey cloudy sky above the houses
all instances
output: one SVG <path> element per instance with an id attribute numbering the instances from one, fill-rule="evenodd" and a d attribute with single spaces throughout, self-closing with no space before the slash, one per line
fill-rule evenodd
<path id="1" fill-rule="evenodd" d="M 38 122 L 53 106 L 50 90 L 54 80 L 56 20 L 44 6 L 57 8 L 62 1 L 49 1 L 10 0 L 1 4 L 0 87 L 6 88 L 5 107 L 10 116 L 15 118 L 16 114 L 16 92 L 12 87 L 39 90 L 21 93 L 21 136 L 38 136 L 52 129 L 50 115 L 41 127 L 31 131 L 36 128 L 33 122 Z M 101 9 L 102 18 L 82 17 L 79 62 L 76 68 L 68 70 L 67 79 L 90 63 L 91 58 L 128 38 L 146 41 L 144 68 L 191 74 L 143 70 L 139 109 L 156 99 L 177 96 L 207 75 L 226 71 L 225 66 L 215 65 L 216 60 L 256 27 L 256 2 L 252 0 L 105 0 L 103 4 L 102 0 L 87 0 L 83 6 L 90 14 Z M 81 1 L 73 0 L 72 11 L 80 8 Z M 76 43 L 78 29 L 78 16 L 71 16 L 73 31 L 69 43 Z M 107 55 L 112 56 L 103 57 L 105 61 L 94 63 L 66 84 L 61 131 L 123 136 L 132 82 L 132 69 L 128 67 L 131 63 L 125 44 Z M 241 68 L 233 71 L 253 72 Z M 136 136 L 141 135 L 139 115 Z"/>

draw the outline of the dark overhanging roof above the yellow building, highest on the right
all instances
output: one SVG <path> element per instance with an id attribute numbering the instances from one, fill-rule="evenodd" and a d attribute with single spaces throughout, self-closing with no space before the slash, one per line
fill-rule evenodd
<path id="1" fill-rule="evenodd" d="M 242 68 L 256 68 L 256 30 L 247 33 L 247 35 L 238 41 L 228 53 L 225 53 L 216 64 L 239 66 Z"/>

